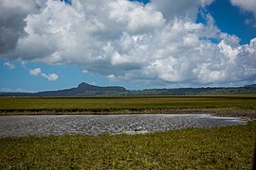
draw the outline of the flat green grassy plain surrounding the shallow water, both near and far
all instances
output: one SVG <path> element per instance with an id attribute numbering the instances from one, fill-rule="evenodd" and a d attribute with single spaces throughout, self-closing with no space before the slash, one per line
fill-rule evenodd
<path id="1" fill-rule="evenodd" d="M 252 169 L 256 95 L 1 97 L 8 114 L 210 112 L 247 125 L 143 135 L 0 137 L 0 169 Z"/>

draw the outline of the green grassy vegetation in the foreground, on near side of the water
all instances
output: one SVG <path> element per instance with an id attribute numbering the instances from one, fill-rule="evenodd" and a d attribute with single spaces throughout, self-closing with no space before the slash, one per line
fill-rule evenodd
<path id="1" fill-rule="evenodd" d="M 0 138 L 0 169 L 252 169 L 256 122 L 146 135 Z"/>

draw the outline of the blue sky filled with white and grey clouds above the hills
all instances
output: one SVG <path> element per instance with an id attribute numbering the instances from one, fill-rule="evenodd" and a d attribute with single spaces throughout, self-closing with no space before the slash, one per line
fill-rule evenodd
<path id="1" fill-rule="evenodd" d="M 0 92 L 256 83 L 256 0 L 0 0 Z"/>

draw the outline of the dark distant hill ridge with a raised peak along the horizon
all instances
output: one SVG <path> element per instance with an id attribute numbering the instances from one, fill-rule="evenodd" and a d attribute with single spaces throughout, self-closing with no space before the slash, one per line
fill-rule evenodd
<path id="1" fill-rule="evenodd" d="M 0 96 L 146 96 L 256 93 L 256 84 L 244 87 L 147 89 L 129 91 L 119 86 L 100 87 L 82 82 L 78 87 L 39 93 L 0 93 Z"/>

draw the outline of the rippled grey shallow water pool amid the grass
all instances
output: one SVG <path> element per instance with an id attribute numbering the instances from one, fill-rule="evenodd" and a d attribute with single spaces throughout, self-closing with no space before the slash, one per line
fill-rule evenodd
<path id="1" fill-rule="evenodd" d="M 138 134 L 188 127 L 247 124 L 237 118 L 208 114 L 14 115 L 0 116 L 0 136 Z"/>

